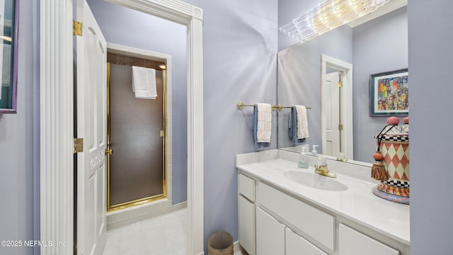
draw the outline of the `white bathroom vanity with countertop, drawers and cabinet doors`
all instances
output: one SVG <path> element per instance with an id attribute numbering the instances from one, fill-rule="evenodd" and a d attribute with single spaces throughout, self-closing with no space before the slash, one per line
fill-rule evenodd
<path id="1" fill-rule="evenodd" d="M 366 164 L 327 160 L 336 179 L 297 167 L 299 154 L 236 155 L 239 243 L 248 254 L 408 255 L 409 206 L 374 196 Z"/>

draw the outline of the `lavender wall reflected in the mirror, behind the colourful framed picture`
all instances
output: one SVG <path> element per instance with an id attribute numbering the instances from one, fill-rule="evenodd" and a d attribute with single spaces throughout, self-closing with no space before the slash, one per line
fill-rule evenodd
<path id="1" fill-rule="evenodd" d="M 375 18 L 352 31 L 354 159 L 372 162 L 376 150 L 373 136 L 386 125 L 387 118 L 369 116 L 369 75 L 408 68 L 407 8 Z M 411 82 L 411 70 L 409 73 Z M 412 86 L 409 91 L 411 95 Z"/>

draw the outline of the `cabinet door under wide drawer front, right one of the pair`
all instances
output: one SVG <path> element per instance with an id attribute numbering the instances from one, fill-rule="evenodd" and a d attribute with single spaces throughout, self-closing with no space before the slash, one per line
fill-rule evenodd
<path id="1" fill-rule="evenodd" d="M 304 237 L 299 237 L 298 234 L 292 232 L 288 227 L 285 231 L 285 247 L 285 255 L 327 255 Z"/>

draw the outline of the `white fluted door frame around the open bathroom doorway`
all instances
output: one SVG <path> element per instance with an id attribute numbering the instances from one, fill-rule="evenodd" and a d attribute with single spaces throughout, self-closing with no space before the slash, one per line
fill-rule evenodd
<path id="1" fill-rule="evenodd" d="M 74 1 L 40 1 L 40 239 L 60 242 L 40 246 L 42 255 L 74 247 Z M 187 242 L 188 254 L 204 254 L 202 9 L 178 0 L 108 1 L 187 27 Z"/>

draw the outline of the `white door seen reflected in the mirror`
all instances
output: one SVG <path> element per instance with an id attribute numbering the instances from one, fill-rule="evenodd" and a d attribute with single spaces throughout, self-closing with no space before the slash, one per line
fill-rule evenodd
<path id="1" fill-rule="evenodd" d="M 326 148 L 323 149 L 323 154 L 338 156 L 340 153 L 340 89 L 338 81 L 340 80 L 340 72 L 332 72 L 326 74 L 326 80 L 323 82 L 325 88 L 323 91 L 323 107 L 326 107 Z"/>

